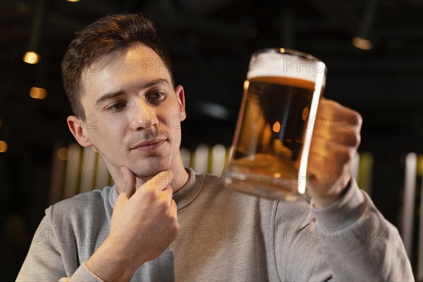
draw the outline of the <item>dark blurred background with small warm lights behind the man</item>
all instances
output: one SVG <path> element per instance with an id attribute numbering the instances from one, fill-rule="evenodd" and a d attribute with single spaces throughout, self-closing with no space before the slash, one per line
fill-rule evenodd
<path id="1" fill-rule="evenodd" d="M 423 276 L 422 0 L 0 0 L 2 279 L 16 278 L 44 209 L 64 197 L 51 193 L 57 159 L 74 142 L 61 85 L 66 47 L 85 25 L 123 12 L 149 14 L 168 46 L 185 87 L 186 152 L 231 146 L 253 51 L 285 47 L 323 60 L 324 95 L 364 119 L 360 186 L 407 237 Z"/>

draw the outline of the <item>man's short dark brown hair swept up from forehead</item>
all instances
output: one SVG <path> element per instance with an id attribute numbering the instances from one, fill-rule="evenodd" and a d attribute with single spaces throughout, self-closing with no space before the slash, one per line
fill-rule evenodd
<path id="1" fill-rule="evenodd" d="M 171 75 L 171 60 L 166 47 L 157 35 L 152 20 L 142 14 L 106 16 L 76 34 L 61 63 L 63 87 L 71 102 L 73 114 L 85 121 L 81 104 L 84 92 L 82 71 L 90 68 L 104 54 L 141 42 L 153 49 L 164 61 Z M 172 81 L 173 83 L 173 81 Z"/>

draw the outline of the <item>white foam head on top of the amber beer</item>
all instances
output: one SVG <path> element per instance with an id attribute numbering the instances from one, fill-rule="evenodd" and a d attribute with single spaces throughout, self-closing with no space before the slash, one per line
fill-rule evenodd
<path id="1" fill-rule="evenodd" d="M 283 53 L 261 53 L 250 61 L 247 79 L 259 77 L 285 77 L 316 82 L 318 76 L 324 75 L 326 66 L 321 61 L 315 61 L 299 56 Z"/>

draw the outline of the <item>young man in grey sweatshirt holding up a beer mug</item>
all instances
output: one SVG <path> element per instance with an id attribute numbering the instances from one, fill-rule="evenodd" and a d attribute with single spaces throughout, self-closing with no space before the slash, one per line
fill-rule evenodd
<path id="1" fill-rule="evenodd" d="M 355 111 L 321 100 L 319 114 L 339 118 L 314 130 L 309 171 L 332 177 L 311 178 L 311 206 L 278 202 L 183 167 L 183 87 L 144 16 L 82 30 L 62 71 L 69 128 L 116 185 L 49 207 L 18 281 L 412 281 L 398 231 L 344 179 L 360 142 Z"/>

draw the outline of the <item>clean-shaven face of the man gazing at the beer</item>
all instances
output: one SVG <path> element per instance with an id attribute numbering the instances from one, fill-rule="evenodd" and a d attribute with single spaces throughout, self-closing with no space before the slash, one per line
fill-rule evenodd
<path id="1" fill-rule="evenodd" d="M 127 166 L 140 178 L 183 169 L 180 121 L 183 88 L 173 89 L 164 62 L 134 44 L 102 56 L 82 74 L 85 135 L 114 176 Z"/>

